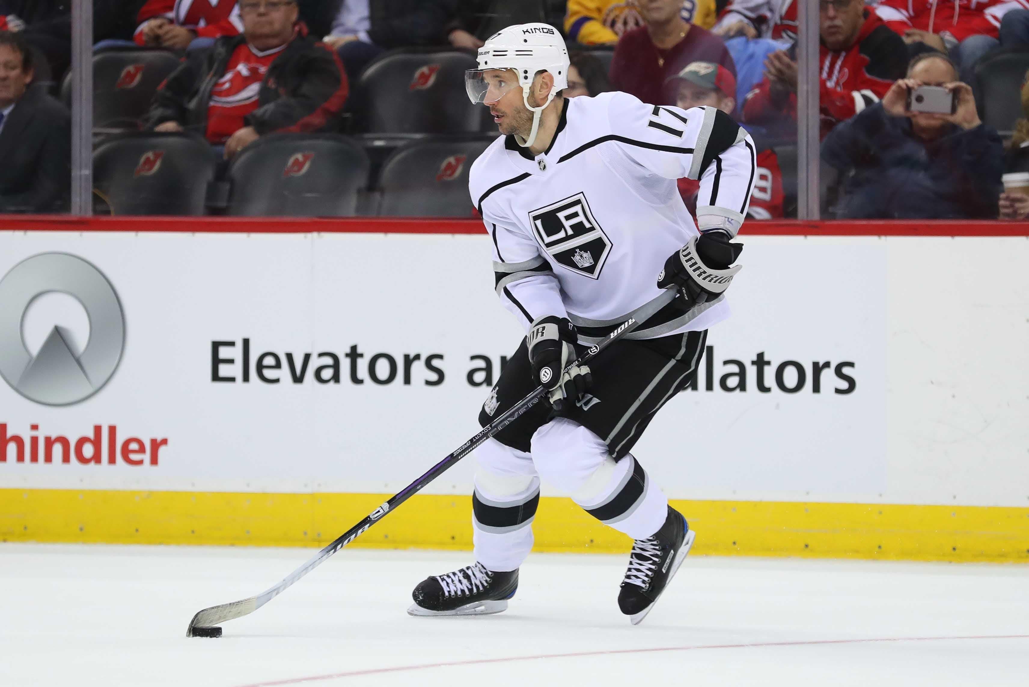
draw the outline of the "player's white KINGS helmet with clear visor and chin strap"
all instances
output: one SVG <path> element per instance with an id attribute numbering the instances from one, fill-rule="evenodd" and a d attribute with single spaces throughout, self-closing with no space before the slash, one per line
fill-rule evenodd
<path id="1" fill-rule="evenodd" d="M 513 69 L 522 86 L 522 102 L 532 110 L 532 133 L 528 139 L 516 136 L 522 146 L 531 146 L 539 129 L 539 115 L 554 96 L 568 87 L 568 48 L 561 33 L 548 24 L 516 24 L 490 36 L 478 48 L 478 69 L 465 72 L 464 85 L 472 103 L 498 100 L 509 88 L 491 87 L 485 72 L 490 69 Z M 551 72 L 554 87 L 539 107 L 529 105 L 532 81 L 538 71 Z"/>

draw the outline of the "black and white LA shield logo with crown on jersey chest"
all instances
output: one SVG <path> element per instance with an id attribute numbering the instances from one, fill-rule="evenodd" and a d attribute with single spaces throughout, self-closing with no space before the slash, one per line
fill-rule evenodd
<path id="1" fill-rule="evenodd" d="M 576 193 L 529 213 L 536 239 L 557 262 L 577 275 L 599 279 L 611 241 L 590 211 L 584 193 Z"/>

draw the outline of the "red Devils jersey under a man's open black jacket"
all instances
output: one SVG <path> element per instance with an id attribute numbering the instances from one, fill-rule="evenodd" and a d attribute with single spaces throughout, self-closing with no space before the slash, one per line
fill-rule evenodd
<path id="1" fill-rule="evenodd" d="M 207 140 L 224 143 L 242 129 L 243 118 L 257 109 L 260 84 L 285 45 L 260 52 L 243 43 L 228 59 L 224 75 L 211 89 L 207 108 Z"/>

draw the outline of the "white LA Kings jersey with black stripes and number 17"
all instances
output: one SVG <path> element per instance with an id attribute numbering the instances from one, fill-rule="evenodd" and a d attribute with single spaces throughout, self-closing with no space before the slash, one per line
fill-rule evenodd
<path id="1" fill-rule="evenodd" d="M 471 167 L 469 190 L 493 240 L 497 294 L 528 330 L 556 315 L 600 340 L 657 298 L 658 274 L 698 229 L 676 179 L 700 179 L 701 229 L 733 236 L 756 169 L 746 131 L 711 107 L 655 107 L 625 93 L 565 99 L 551 146 L 535 157 L 507 136 Z M 724 296 L 683 314 L 668 306 L 629 334 L 707 329 Z"/>

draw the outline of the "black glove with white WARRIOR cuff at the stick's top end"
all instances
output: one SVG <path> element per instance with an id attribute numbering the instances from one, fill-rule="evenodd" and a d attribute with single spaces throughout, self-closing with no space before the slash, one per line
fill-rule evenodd
<path id="1" fill-rule="evenodd" d="M 658 275 L 658 288 L 665 289 L 673 284 L 682 295 L 675 302 L 683 310 L 697 304 L 701 294 L 705 300 L 720 296 L 740 266 L 731 267 L 743 251 L 743 244 L 730 243 L 728 233 L 712 229 L 689 243 L 665 260 L 665 268 Z"/>

